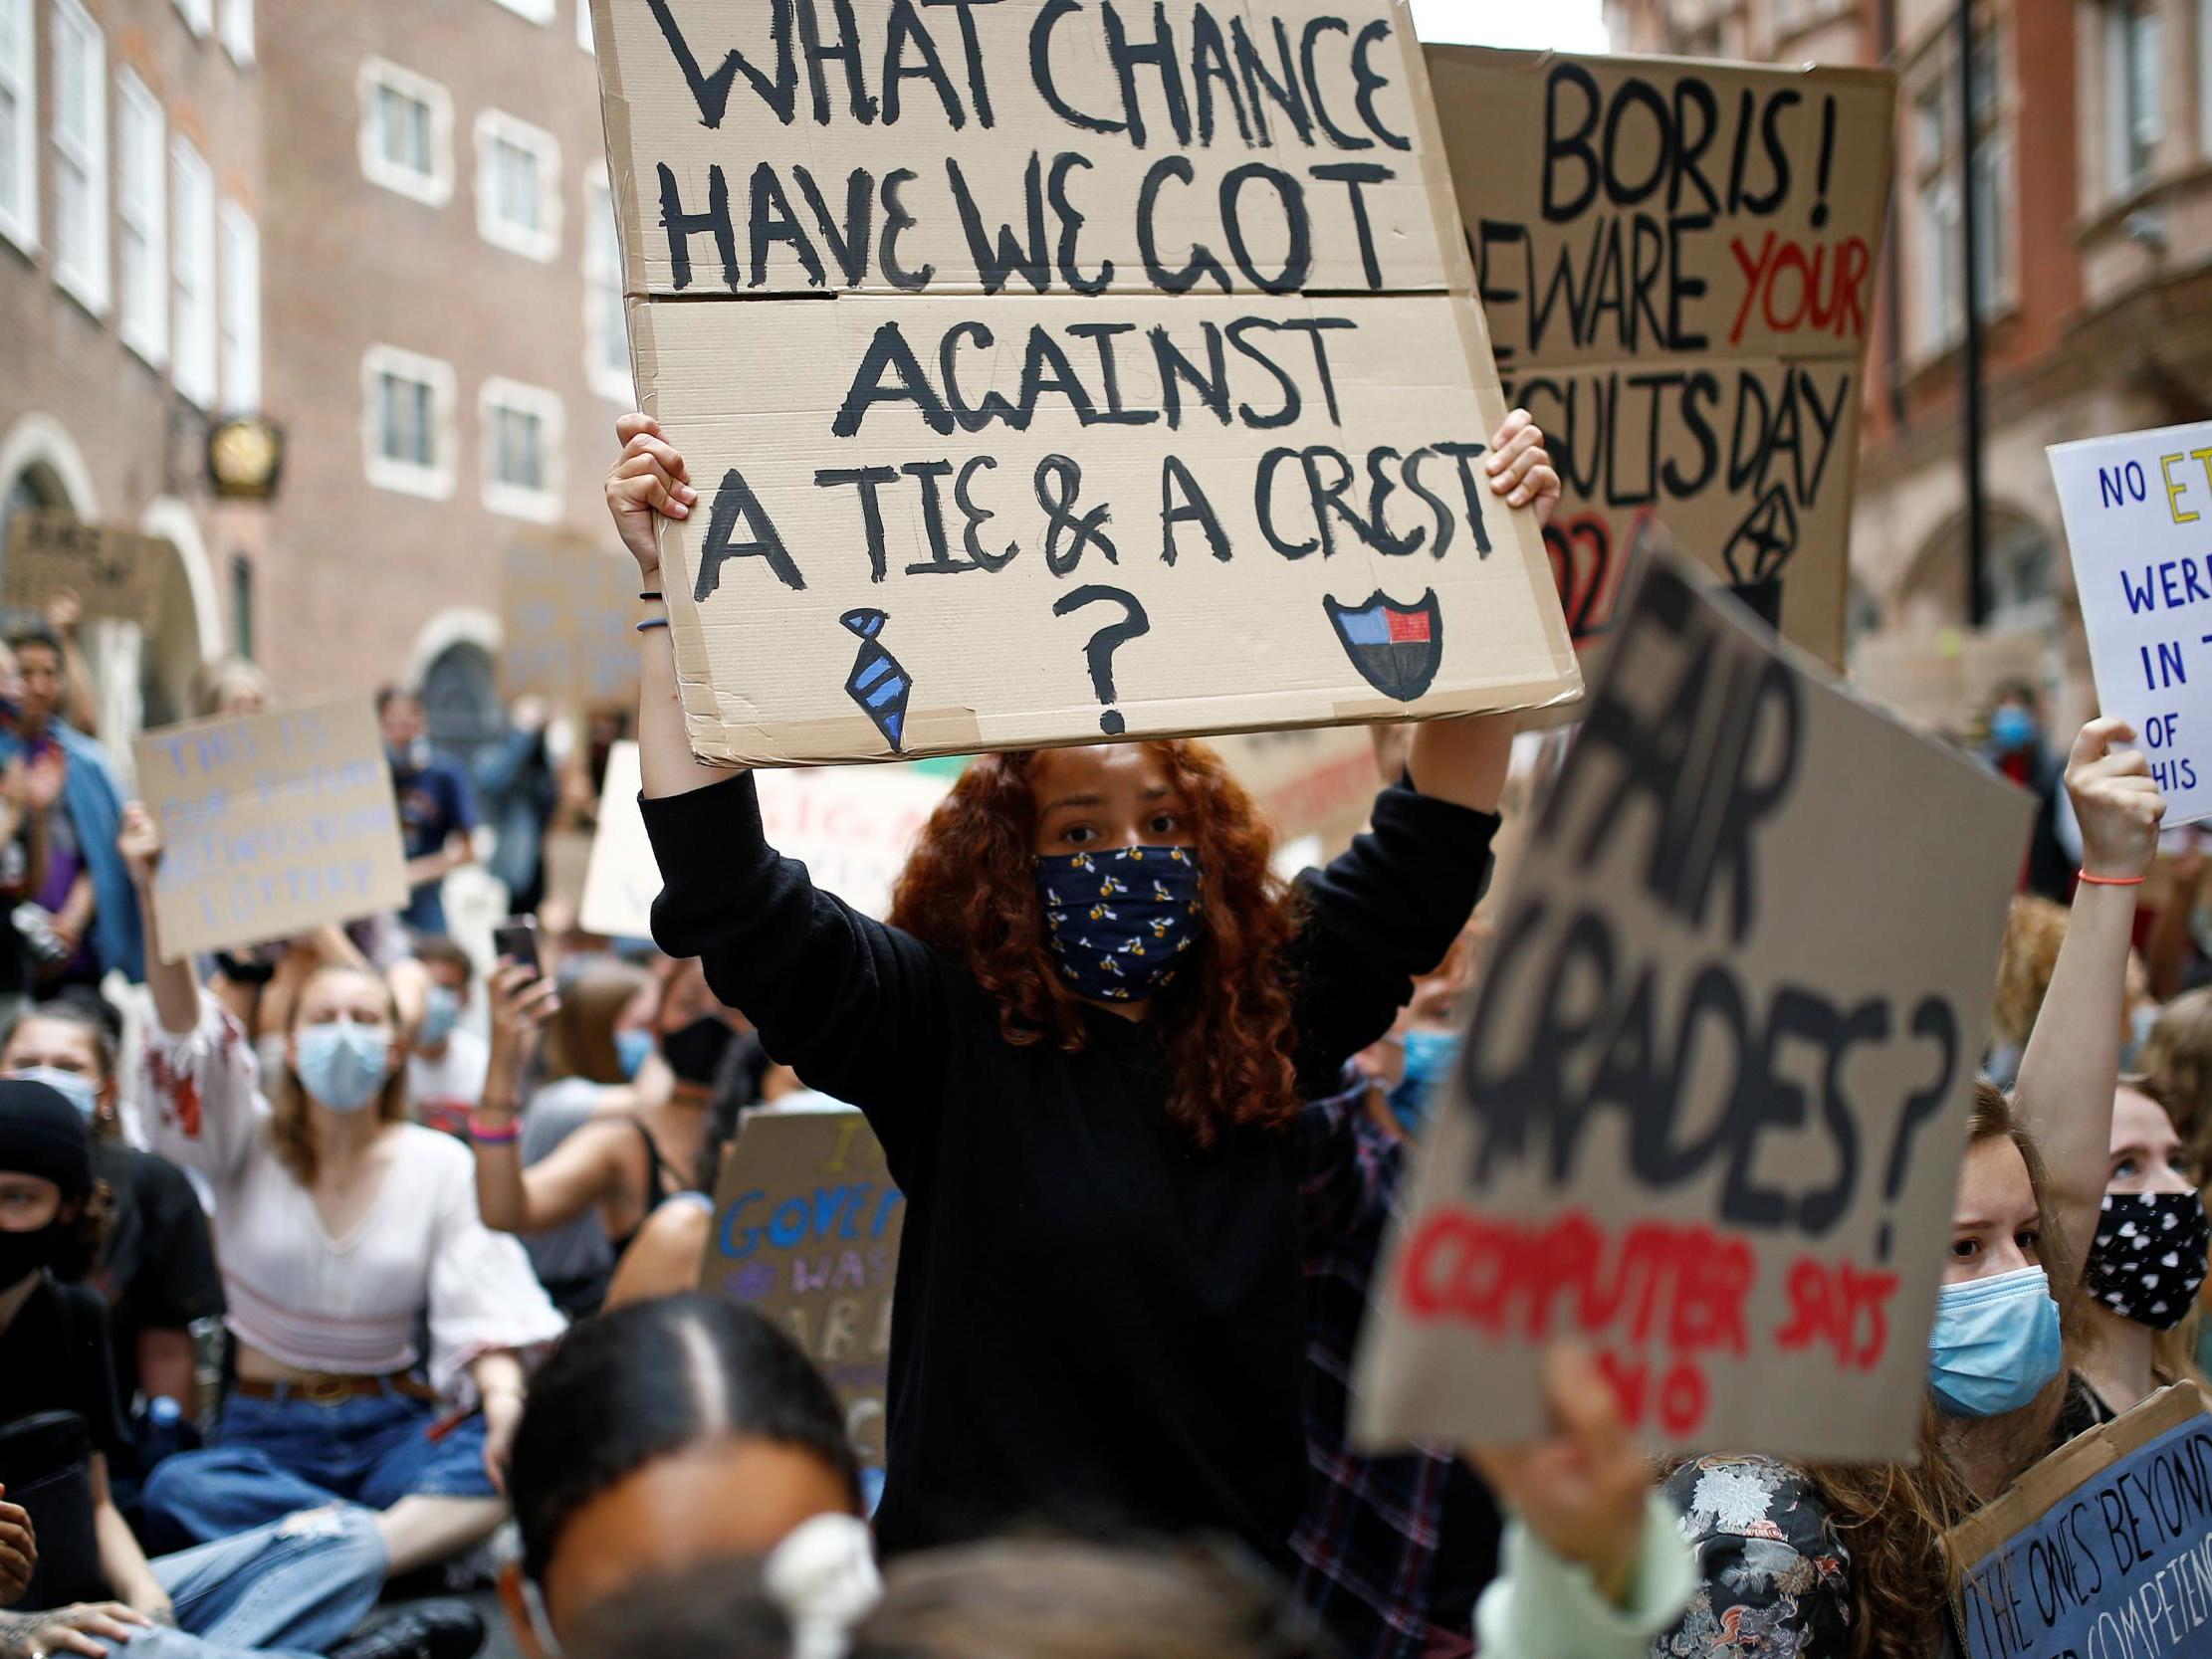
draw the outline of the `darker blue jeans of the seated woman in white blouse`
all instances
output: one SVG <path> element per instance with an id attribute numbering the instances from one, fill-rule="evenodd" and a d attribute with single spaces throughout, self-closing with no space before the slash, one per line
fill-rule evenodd
<path id="1" fill-rule="evenodd" d="M 484 1473 L 484 1418 L 431 1440 L 438 1416 L 403 1394 L 336 1405 L 232 1396 L 206 1451 L 164 1458 L 146 1478 L 146 1513 L 206 1544 L 332 1502 L 498 1495 Z"/>

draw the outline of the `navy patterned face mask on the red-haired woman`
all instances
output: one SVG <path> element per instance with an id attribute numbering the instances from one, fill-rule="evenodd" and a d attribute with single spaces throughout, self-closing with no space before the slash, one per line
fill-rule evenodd
<path id="1" fill-rule="evenodd" d="M 1037 898 L 1060 975 L 1093 1002 L 1144 1002 L 1175 980 L 1197 940 L 1203 887 L 1192 847 L 1037 858 Z"/>

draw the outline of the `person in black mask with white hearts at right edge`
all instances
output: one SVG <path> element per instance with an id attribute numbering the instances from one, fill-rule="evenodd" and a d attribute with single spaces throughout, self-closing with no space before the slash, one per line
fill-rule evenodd
<path id="1" fill-rule="evenodd" d="M 2093 1347 L 2081 1365 L 2099 1416 L 2132 1411 L 2168 1383 L 2190 1378 L 2172 1332 L 2197 1307 L 2212 1248 L 2212 1217 L 2172 1117 L 2141 1088 L 2112 1095 L 2112 1168 L 2088 1241 Z"/>

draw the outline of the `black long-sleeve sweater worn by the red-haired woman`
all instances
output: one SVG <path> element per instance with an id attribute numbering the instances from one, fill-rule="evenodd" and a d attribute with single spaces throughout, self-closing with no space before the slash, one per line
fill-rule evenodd
<path id="1" fill-rule="evenodd" d="M 860 1106 L 907 1194 L 883 1548 L 1042 1522 L 1225 1531 L 1287 1566 L 1307 1480 L 1294 1139 L 1199 1150 L 1150 1022 L 1088 1011 L 1075 1055 L 1004 1042 L 958 958 L 765 843 L 750 774 L 646 801 L 646 827 L 661 949 L 703 958 L 776 1060 Z M 1442 960 L 1495 830 L 1400 785 L 1301 878 L 1310 1097 Z"/>

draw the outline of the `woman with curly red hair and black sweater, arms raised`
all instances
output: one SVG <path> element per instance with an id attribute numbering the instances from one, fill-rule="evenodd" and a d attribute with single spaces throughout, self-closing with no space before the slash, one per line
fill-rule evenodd
<path id="1" fill-rule="evenodd" d="M 699 493 L 653 420 L 617 436 L 606 498 L 653 591 L 655 515 Z M 1500 500 L 1551 511 L 1526 414 L 1486 465 Z M 639 743 L 661 949 L 867 1113 L 909 1201 L 885 1548 L 1046 1520 L 1223 1531 L 1287 1564 L 1307 1467 L 1283 1126 L 1467 922 L 1513 721 L 1420 726 L 1374 830 L 1294 889 L 1203 743 L 987 757 L 878 925 L 776 856 L 750 774 L 692 759 L 659 622 Z"/>

